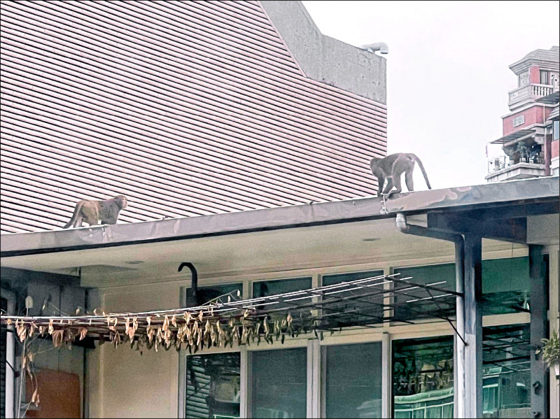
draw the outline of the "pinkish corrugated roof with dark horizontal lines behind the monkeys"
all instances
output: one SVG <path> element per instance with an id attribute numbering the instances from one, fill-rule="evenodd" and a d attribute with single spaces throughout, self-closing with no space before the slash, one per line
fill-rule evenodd
<path id="1" fill-rule="evenodd" d="M 306 78 L 258 1 L 7 1 L 1 231 L 374 194 L 386 106 Z M 385 80 L 382 80 L 385 83 Z"/>

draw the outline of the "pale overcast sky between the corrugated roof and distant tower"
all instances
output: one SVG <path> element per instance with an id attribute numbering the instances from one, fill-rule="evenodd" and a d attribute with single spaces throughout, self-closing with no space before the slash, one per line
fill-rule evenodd
<path id="1" fill-rule="evenodd" d="M 559 45 L 559 1 L 303 3 L 325 35 L 388 44 L 388 153 L 418 155 L 434 189 L 486 183 L 485 145 L 517 87 L 509 65 Z"/>

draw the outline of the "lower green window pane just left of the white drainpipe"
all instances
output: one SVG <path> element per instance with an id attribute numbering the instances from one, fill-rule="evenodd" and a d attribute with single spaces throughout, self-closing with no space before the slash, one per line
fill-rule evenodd
<path id="1" fill-rule="evenodd" d="M 453 336 L 393 341 L 393 418 L 453 418 Z"/>

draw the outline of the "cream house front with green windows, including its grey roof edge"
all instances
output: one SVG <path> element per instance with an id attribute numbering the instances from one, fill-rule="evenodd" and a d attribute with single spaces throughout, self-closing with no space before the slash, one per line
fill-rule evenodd
<path id="1" fill-rule="evenodd" d="M 181 262 L 197 268 L 199 291 L 236 301 L 394 274 L 464 292 L 457 301 L 419 300 L 419 286 L 399 294 L 386 283 L 381 316 L 389 321 L 350 317 L 324 336 L 195 353 L 142 351 L 127 341 L 52 350 L 38 339 L 31 350 L 44 350 L 34 359 L 41 403 L 33 415 L 73 406 L 90 418 L 558 418 L 558 381 L 534 350 L 559 326 L 559 192 L 555 179 L 537 178 L 385 203 L 4 234 L 2 286 L 18 296 L 19 313 L 25 297 L 35 301 L 29 315 L 186 307 L 193 283 L 177 270 Z M 415 229 L 421 235 L 403 234 Z M 347 313 L 375 317 L 381 306 L 367 301 Z M 449 321 L 435 316 L 442 304 L 456 312 Z M 305 315 L 297 306 L 291 313 Z M 49 390 L 67 381 L 75 384 L 66 392 Z"/>

